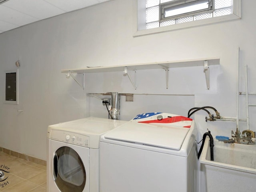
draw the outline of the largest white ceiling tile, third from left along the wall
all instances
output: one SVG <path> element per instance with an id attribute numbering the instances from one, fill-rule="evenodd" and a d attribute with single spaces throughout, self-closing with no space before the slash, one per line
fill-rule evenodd
<path id="1" fill-rule="evenodd" d="M 9 0 L 2 5 L 39 20 L 65 12 L 44 0 Z"/>

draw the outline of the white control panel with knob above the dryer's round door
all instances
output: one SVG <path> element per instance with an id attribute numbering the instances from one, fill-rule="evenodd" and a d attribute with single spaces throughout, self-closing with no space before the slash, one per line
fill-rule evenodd
<path id="1" fill-rule="evenodd" d="M 57 140 L 60 142 L 70 143 L 73 145 L 79 145 L 84 147 L 90 147 L 89 138 L 90 137 L 88 136 L 69 131 L 52 130 L 50 132 L 50 139 L 52 140 Z"/>

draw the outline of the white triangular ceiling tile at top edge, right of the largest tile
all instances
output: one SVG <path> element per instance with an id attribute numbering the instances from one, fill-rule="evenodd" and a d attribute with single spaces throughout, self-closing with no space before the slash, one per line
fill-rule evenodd
<path id="1" fill-rule="evenodd" d="M 98 0 L 44 0 L 66 12 L 100 3 Z"/>

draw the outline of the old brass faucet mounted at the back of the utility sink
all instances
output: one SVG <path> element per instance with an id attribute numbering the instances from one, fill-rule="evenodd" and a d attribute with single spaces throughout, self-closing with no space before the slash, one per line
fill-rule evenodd
<path id="1" fill-rule="evenodd" d="M 244 135 L 246 133 L 246 136 Z M 255 138 L 255 132 L 252 130 L 244 130 L 241 132 L 238 128 L 236 128 L 236 133 L 234 131 L 231 131 L 231 136 L 234 138 L 235 143 L 240 143 L 240 144 L 250 144 L 250 145 L 255 145 L 256 144 L 256 138 Z"/>

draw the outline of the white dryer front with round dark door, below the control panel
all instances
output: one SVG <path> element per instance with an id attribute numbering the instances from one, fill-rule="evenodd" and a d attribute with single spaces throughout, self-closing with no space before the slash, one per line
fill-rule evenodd
<path id="1" fill-rule="evenodd" d="M 89 149 L 58 141 L 51 142 L 50 191 L 89 191 Z M 56 188 L 56 189 L 55 189 Z"/>

